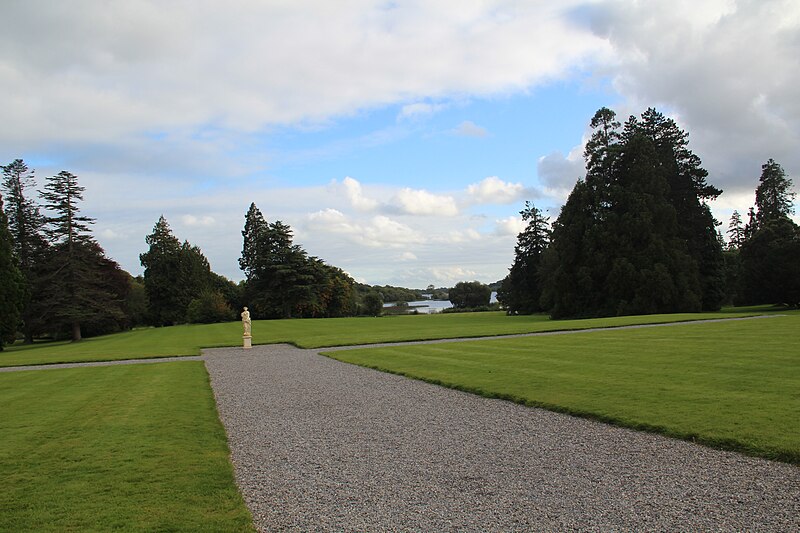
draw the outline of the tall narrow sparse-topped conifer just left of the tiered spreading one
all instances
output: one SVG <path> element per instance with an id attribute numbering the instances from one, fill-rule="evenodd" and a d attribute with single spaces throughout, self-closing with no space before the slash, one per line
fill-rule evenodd
<path id="1" fill-rule="evenodd" d="M 22 322 L 25 342 L 30 344 L 44 327 L 46 287 L 43 268 L 46 263 L 48 243 L 44 238 L 45 219 L 39 206 L 27 190 L 34 186 L 34 172 L 22 159 L 2 167 L 3 188 L 6 191 L 5 212 L 13 237 L 14 252 L 25 279 Z"/>

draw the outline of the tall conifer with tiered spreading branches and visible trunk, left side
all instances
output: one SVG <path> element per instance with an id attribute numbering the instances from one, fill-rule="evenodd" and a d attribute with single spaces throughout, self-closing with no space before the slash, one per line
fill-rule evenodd
<path id="1" fill-rule="evenodd" d="M 77 176 L 62 171 L 47 178 L 44 188 L 45 209 L 52 213 L 45 233 L 53 243 L 45 276 L 48 316 L 56 328 L 68 329 L 72 340 L 79 341 L 84 323 L 103 323 L 106 317 L 124 320 L 124 296 L 109 287 L 109 268 L 116 270 L 118 265 L 92 239 L 89 226 L 94 219 L 80 214 L 84 187 Z"/>

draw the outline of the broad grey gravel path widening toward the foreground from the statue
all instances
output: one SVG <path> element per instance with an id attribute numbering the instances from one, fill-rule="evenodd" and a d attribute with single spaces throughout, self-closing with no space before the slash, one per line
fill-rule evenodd
<path id="1" fill-rule="evenodd" d="M 291 346 L 204 351 L 262 531 L 800 530 L 800 468 Z"/>

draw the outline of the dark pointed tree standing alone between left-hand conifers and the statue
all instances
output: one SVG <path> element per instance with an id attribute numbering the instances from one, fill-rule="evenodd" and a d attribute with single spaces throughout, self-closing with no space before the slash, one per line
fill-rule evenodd
<path id="1" fill-rule="evenodd" d="M 150 322 L 155 326 L 185 322 L 189 304 L 212 285 L 208 260 L 198 247 L 181 244 L 163 215 L 145 242 L 149 249 L 139 260 L 145 269 Z"/>

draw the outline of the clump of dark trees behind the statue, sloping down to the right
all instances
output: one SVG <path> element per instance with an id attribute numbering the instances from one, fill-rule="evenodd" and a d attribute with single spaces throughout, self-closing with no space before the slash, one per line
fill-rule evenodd
<path id="1" fill-rule="evenodd" d="M 294 244 L 292 229 L 269 223 L 254 203 L 245 214 L 239 267 L 254 317 L 336 317 L 356 311 L 352 278 Z"/>

